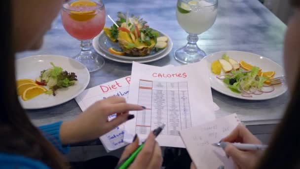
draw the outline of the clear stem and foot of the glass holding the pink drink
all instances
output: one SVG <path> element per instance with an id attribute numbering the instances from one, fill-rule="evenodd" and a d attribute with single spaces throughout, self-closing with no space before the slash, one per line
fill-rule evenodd
<path id="1" fill-rule="evenodd" d="M 74 57 L 74 59 L 84 64 L 89 72 L 94 72 L 101 69 L 105 64 L 105 60 L 92 51 L 91 40 L 81 41 L 80 47 L 81 51 Z"/>

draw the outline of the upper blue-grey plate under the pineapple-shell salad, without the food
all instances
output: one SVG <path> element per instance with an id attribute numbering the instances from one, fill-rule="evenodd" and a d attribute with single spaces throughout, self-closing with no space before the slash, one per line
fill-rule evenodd
<path id="1" fill-rule="evenodd" d="M 159 33 L 159 37 L 162 37 L 162 36 L 167 36 L 166 34 L 158 31 L 158 30 L 155 30 L 153 29 L 153 31 L 157 31 Z M 116 49 L 119 49 L 121 50 L 118 42 L 112 42 L 105 34 L 104 34 L 104 31 L 102 31 L 99 35 L 99 38 L 98 38 L 98 46 L 99 48 L 104 51 L 106 54 L 109 54 L 109 55 L 112 55 L 114 57 L 118 57 L 118 58 L 121 58 L 121 59 L 127 59 L 127 60 L 140 60 L 140 59 L 147 59 L 147 58 L 151 58 L 151 57 L 155 57 L 159 54 L 161 54 L 163 51 L 166 50 L 166 48 L 164 49 L 161 49 L 159 51 L 154 51 L 154 50 L 151 50 L 150 51 L 150 54 L 149 55 L 146 55 L 146 56 L 120 56 L 120 55 L 116 55 L 116 54 L 112 54 L 111 52 L 109 52 L 109 48 L 110 47 L 113 47 L 113 48 L 116 48 Z"/>

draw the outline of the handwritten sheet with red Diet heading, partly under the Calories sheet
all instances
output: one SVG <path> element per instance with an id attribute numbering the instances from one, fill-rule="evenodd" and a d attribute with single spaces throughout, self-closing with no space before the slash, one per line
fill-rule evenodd
<path id="1" fill-rule="evenodd" d="M 89 106 L 98 100 L 106 99 L 107 97 L 116 95 L 128 99 L 130 76 L 114 80 L 112 82 L 101 84 L 89 89 L 84 90 L 78 95 L 75 100 L 82 111 L 86 110 Z M 109 121 L 114 119 L 116 115 L 111 115 Z M 124 125 L 115 127 L 107 134 L 100 137 L 100 140 L 107 151 L 112 151 L 125 146 L 127 143 L 123 141 Z"/>

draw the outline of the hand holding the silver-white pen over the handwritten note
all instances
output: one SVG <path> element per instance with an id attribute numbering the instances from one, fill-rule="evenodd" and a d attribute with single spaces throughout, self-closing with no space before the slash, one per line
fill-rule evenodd
<path id="1" fill-rule="evenodd" d="M 262 144 L 246 127 L 238 125 L 228 136 L 222 139 L 224 142 L 239 142 L 249 144 Z M 225 153 L 232 158 L 237 169 L 254 169 L 262 156 L 262 151 L 242 151 L 227 143 Z"/>

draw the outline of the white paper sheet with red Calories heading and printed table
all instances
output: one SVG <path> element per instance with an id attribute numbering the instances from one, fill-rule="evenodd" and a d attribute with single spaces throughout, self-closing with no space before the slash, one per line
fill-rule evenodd
<path id="1" fill-rule="evenodd" d="M 165 124 L 156 139 L 159 145 L 185 147 L 179 130 L 215 119 L 205 61 L 167 68 L 134 62 L 128 102 L 146 110 L 130 112 L 135 118 L 125 123 L 126 142 L 132 142 L 135 133 L 146 139 L 151 130 Z"/>

